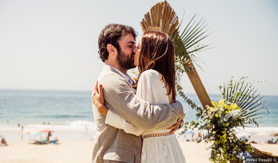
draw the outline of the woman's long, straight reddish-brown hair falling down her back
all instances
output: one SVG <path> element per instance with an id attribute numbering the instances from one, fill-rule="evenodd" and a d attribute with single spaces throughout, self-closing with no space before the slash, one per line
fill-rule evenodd
<path id="1" fill-rule="evenodd" d="M 175 52 L 174 43 L 168 34 L 161 31 L 147 31 L 142 36 L 141 52 L 138 58 L 139 76 L 149 69 L 160 73 L 160 80 L 167 81 L 173 100 L 176 99 L 175 89 Z M 136 85 L 138 79 L 136 79 Z M 166 85 L 166 86 L 167 86 Z M 167 95 L 169 95 L 167 94 Z"/>

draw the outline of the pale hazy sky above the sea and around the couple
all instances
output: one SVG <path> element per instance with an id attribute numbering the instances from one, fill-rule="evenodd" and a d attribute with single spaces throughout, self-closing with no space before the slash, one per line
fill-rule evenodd
<path id="1" fill-rule="evenodd" d="M 98 58 L 98 35 L 109 23 L 143 31 L 140 21 L 161 1 L 0 0 L 0 89 L 90 91 L 104 64 Z M 231 76 L 248 81 L 263 95 L 278 95 L 278 1 L 168 1 L 182 28 L 197 13 L 211 33 L 196 67 L 209 94 Z M 187 74 L 185 93 L 194 93 Z"/>

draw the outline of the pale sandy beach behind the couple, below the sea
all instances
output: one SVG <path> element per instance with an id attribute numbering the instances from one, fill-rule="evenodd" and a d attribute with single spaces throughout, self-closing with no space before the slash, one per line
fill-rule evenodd
<path id="1" fill-rule="evenodd" d="M 47 132 L 38 136 L 30 136 L 26 132 L 28 132 L 28 130 L 39 130 L 42 128 L 54 129 L 55 131 L 51 133 L 52 136 L 50 137 L 50 140 L 58 138 L 59 144 L 30 144 L 33 140 L 40 140 L 40 137 L 46 138 Z M 269 130 L 271 129 L 276 128 L 270 128 Z M 258 130 L 270 133 L 268 128 Z M 176 136 L 187 163 L 209 162 L 208 158 L 210 155 L 206 148 L 210 144 L 186 141 L 192 140 L 192 135 L 179 136 L 179 132 L 180 130 L 176 132 Z M 260 131 L 260 133 L 262 132 Z M 251 135 L 250 141 L 254 140 L 258 142 L 258 144 L 252 145 L 261 151 L 278 155 L 278 144 L 265 143 L 266 140 L 271 138 L 276 140 L 277 136 L 272 137 L 269 133 L 267 135 L 261 135 L 260 133 Z M 21 132 L 20 128 L 2 127 L 0 135 L 2 135 L 8 143 L 8 146 L 0 146 L 1 163 L 89 163 L 91 162 L 96 131 L 94 125 L 89 126 L 87 130 L 85 130 L 84 126 L 79 128 L 67 128 L 65 126 L 55 125 L 29 125 L 29 127 L 26 127 L 23 132 Z M 193 135 L 194 140 L 196 136 L 197 132 Z"/>

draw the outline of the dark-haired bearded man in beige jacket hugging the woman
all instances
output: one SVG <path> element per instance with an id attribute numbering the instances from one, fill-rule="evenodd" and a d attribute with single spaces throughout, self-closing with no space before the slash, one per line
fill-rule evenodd
<path id="1" fill-rule="evenodd" d="M 142 129 L 168 128 L 176 123 L 172 126 L 175 131 L 184 116 L 183 109 L 187 109 L 185 103 L 152 106 L 138 98 L 136 90 L 132 88 L 135 81 L 127 75 L 127 70 L 135 68 L 133 49 L 136 36 L 137 33 L 130 26 L 109 24 L 98 37 L 99 57 L 105 63 L 98 76 L 98 88 L 99 84 L 103 87 L 105 106 Z M 99 134 L 95 140 L 92 162 L 140 163 L 141 137 L 105 124 L 106 117 L 94 105 L 93 113 Z"/>

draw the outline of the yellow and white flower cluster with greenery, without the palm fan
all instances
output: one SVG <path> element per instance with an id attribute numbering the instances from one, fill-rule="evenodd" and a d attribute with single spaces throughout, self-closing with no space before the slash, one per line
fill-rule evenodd
<path id="1" fill-rule="evenodd" d="M 234 130 L 234 127 L 241 126 L 246 119 L 248 120 L 242 116 L 242 110 L 235 103 L 225 102 L 225 99 L 217 103 L 212 101 L 211 104 L 213 107 L 208 106 L 207 110 L 203 111 L 201 115 L 203 125 L 199 128 L 207 131 L 203 136 L 206 143 L 214 142 L 209 146 L 210 160 L 227 162 L 227 160 L 235 160 L 235 156 L 242 159 L 243 153 L 246 156 L 250 155 L 254 148 L 245 141 L 239 140 Z"/>

